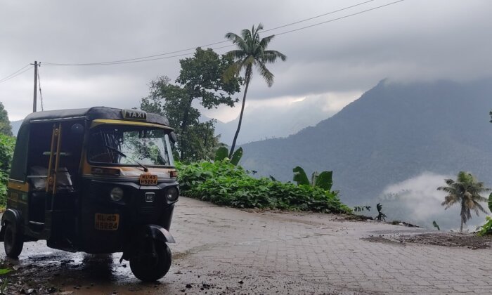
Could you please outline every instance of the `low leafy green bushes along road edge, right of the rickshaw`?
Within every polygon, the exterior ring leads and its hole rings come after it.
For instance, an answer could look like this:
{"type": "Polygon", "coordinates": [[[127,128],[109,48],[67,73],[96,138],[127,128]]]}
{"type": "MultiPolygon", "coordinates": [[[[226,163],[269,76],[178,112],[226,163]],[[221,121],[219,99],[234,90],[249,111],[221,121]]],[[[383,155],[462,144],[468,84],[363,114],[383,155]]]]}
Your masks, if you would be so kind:
{"type": "Polygon", "coordinates": [[[253,178],[241,166],[224,161],[178,164],[181,195],[223,206],[351,213],[337,192],[311,185],[253,178]]]}

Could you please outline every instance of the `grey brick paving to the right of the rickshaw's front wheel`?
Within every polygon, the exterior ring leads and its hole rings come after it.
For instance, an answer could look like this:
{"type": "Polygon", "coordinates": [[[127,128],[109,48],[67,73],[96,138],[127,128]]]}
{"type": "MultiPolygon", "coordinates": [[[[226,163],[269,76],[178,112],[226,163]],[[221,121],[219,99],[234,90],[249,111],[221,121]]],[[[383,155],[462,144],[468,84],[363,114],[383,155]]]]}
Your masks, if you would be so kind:
{"type": "MultiPolygon", "coordinates": [[[[171,228],[177,242],[171,272],[188,271],[231,292],[492,294],[491,249],[361,240],[418,231],[181,198],[171,228]]],[[[195,281],[187,291],[198,291],[195,281]]]]}

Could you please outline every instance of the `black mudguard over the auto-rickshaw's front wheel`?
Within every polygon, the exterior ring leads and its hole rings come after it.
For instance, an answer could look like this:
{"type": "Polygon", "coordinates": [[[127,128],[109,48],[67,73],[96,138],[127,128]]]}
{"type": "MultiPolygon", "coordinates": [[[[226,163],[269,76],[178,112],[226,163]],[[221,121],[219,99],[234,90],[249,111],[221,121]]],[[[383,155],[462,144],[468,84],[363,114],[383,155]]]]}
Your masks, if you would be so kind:
{"type": "Polygon", "coordinates": [[[130,260],[131,257],[138,253],[138,248],[141,247],[148,239],[160,241],[163,243],[175,243],[174,237],[165,228],[160,225],[148,224],[143,225],[136,231],[136,235],[131,239],[131,243],[125,247],[123,256],[119,262],[130,260]]]}

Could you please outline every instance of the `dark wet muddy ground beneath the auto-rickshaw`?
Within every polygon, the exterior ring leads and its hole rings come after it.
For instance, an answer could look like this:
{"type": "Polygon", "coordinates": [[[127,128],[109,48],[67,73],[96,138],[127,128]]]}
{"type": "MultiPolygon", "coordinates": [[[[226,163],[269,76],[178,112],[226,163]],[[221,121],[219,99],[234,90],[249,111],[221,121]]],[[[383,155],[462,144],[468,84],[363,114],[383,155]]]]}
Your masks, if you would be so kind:
{"type": "MultiPolygon", "coordinates": [[[[127,294],[148,288],[167,289],[167,283],[145,284],[131,273],[128,261],[119,263],[121,253],[85,254],[50,249],[43,242],[25,244],[18,260],[6,258],[4,264],[15,270],[9,275],[9,294],[20,289],[74,291],[75,294],[127,294]]],[[[172,271],[172,266],[171,266],[172,271]]],[[[171,271],[163,280],[171,275],[171,271]]]]}

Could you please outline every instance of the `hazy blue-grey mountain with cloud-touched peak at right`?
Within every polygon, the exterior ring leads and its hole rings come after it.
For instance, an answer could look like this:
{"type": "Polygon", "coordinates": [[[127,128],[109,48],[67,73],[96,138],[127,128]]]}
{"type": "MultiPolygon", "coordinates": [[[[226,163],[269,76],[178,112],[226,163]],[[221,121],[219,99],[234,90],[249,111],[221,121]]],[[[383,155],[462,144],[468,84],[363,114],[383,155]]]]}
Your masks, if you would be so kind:
{"type": "Polygon", "coordinates": [[[242,145],[242,165],[282,181],[292,180],[297,165],[306,173],[333,170],[334,189],[349,205],[372,202],[422,173],[470,171],[492,186],[490,93],[492,80],[381,81],[316,126],[242,145]]]}

